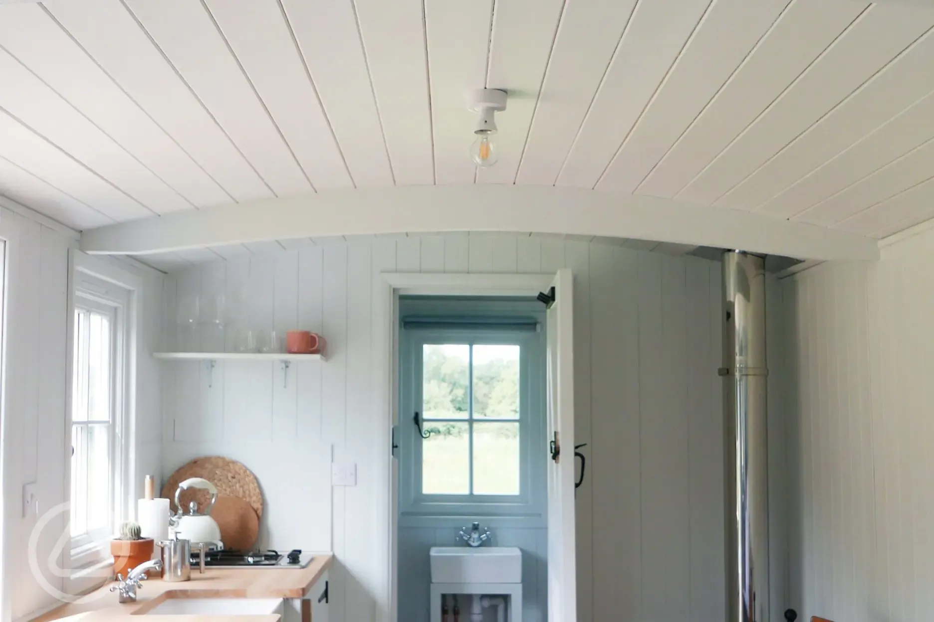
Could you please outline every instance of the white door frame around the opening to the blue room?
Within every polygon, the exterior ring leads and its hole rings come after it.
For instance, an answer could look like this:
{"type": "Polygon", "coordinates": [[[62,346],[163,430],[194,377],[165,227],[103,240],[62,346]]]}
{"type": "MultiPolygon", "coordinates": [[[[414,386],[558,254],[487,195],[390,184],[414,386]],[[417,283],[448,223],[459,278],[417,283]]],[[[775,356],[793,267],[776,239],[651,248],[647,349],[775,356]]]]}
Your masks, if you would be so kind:
{"type": "MultiPolygon", "coordinates": [[[[399,422],[399,296],[535,296],[547,292],[555,274],[463,274],[427,272],[383,272],[375,281],[374,304],[374,357],[384,361],[385,367],[376,368],[375,408],[384,409],[380,435],[379,455],[386,464],[386,486],[379,491],[385,495],[378,500],[386,519],[376,521],[377,530],[385,529],[380,538],[387,546],[385,568],[388,571],[385,609],[376,608],[378,622],[397,622],[396,602],[398,588],[398,508],[399,472],[392,458],[392,426],[399,422]]],[[[380,518],[379,513],[375,513],[380,518]]]]}

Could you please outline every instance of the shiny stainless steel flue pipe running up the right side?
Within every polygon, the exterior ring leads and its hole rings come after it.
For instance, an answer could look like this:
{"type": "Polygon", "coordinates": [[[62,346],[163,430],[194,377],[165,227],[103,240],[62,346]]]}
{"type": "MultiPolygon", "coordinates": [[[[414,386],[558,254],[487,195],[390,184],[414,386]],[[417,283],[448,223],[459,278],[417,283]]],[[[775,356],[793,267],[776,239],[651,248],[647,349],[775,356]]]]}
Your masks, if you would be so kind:
{"type": "Polygon", "coordinates": [[[723,254],[727,622],[769,620],[765,261],[723,254]]]}

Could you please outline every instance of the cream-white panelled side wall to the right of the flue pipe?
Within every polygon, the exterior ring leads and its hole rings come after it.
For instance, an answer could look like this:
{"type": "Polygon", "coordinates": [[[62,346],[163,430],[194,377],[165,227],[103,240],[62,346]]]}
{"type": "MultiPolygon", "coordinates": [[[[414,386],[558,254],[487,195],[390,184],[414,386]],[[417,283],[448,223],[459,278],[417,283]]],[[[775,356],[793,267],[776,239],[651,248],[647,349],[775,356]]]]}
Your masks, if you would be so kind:
{"type": "MultiPolygon", "coordinates": [[[[931,230],[782,282],[790,584],[800,616],[923,619],[934,577],[931,230]]],[[[770,438],[771,441],[771,438],[770,438]]]]}

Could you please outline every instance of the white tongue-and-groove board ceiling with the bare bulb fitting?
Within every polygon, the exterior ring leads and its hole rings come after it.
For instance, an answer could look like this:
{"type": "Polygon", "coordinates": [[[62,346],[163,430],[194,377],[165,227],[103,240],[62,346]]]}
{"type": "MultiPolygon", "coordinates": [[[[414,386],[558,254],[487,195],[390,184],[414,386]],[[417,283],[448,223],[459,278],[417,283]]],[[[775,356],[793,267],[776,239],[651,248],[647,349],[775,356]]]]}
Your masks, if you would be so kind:
{"type": "Polygon", "coordinates": [[[0,194],[77,229],[545,185],[882,238],[934,216],[934,9],[856,0],[0,5],[0,194]],[[508,90],[497,165],[468,90],[508,90]]]}

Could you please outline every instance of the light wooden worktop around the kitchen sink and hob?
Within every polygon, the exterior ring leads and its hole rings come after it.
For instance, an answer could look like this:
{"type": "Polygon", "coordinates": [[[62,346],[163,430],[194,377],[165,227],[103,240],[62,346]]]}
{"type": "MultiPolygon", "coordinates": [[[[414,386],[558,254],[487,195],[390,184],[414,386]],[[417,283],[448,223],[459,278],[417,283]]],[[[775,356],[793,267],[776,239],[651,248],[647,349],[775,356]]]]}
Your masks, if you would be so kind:
{"type": "MultiPolygon", "coordinates": [[[[253,598],[253,599],[300,599],[315,585],[321,574],[331,566],[331,554],[315,555],[302,569],[270,568],[217,568],[205,569],[200,574],[191,568],[191,581],[167,582],[149,579],[136,592],[137,601],[120,604],[117,593],[111,593],[107,582],[78,602],[64,604],[48,614],[40,615],[34,622],[48,622],[67,618],[67,622],[106,620],[124,622],[138,620],[130,615],[144,614],[160,602],[184,598],[253,598]],[[74,617],[72,617],[74,616],[74,617]]],[[[173,622],[216,622],[218,620],[248,620],[249,622],[276,622],[278,615],[175,615],[173,622]]]]}

